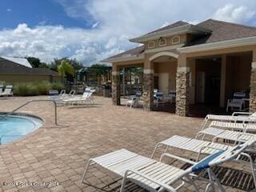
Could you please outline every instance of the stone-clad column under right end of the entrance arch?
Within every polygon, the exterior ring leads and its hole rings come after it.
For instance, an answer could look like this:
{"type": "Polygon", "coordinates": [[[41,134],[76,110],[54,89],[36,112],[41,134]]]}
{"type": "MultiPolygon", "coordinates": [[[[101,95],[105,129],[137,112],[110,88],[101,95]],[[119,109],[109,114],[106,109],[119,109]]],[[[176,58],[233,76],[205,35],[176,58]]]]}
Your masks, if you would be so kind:
{"type": "Polygon", "coordinates": [[[190,105],[190,67],[186,66],[186,57],[178,58],[176,76],[176,114],[188,116],[190,105]]]}

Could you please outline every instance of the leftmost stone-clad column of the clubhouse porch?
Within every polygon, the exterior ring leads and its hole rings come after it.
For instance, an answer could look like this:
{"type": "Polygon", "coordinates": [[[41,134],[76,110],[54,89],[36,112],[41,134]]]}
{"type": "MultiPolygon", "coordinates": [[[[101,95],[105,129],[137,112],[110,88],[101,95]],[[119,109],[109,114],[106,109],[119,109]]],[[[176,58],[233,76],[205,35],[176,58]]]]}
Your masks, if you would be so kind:
{"type": "Polygon", "coordinates": [[[120,72],[119,67],[112,66],[112,103],[120,106],[120,72]]]}

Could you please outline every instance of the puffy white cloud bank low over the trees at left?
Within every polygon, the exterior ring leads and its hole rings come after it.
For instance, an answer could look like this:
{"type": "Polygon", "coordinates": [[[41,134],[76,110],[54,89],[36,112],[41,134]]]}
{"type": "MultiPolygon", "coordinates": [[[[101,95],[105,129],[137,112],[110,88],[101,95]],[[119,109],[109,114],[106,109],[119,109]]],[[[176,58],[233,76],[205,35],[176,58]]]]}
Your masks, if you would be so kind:
{"type": "MultiPolygon", "coordinates": [[[[34,56],[50,62],[54,58],[78,58],[84,64],[98,61],[109,54],[118,54],[122,49],[114,47],[118,38],[82,29],[65,29],[63,26],[37,26],[30,28],[25,23],[14,30],[0,31],[0,55],[34,56]],[[106,48],[101,45],[108,45],[106,48]]],[[[122,43],[121,43],[122,44],[122,43]]]]}

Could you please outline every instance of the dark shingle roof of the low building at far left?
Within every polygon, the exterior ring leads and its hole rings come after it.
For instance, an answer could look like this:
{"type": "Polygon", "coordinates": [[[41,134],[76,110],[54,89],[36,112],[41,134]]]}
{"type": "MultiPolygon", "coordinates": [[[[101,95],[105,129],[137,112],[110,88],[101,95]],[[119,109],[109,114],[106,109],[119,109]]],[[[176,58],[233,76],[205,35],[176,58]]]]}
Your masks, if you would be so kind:
{"type": "Polygon", "coordinates": [[[4,58],[0,58],[0,74],[41,74],[59,76],[59,74],[46,68],[29,68],[10,62],[4,58]]]}

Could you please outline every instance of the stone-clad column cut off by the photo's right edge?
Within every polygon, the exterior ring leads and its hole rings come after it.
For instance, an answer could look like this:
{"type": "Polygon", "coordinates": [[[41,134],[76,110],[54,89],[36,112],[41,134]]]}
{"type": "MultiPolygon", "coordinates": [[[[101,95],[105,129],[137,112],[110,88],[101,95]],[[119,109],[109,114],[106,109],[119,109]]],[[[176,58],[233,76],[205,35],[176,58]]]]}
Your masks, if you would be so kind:
{"type": "Polygon", "coordinates": [[[256,49],[253,51],[250,71],[250,112],[256,112],[256,49]]]}

